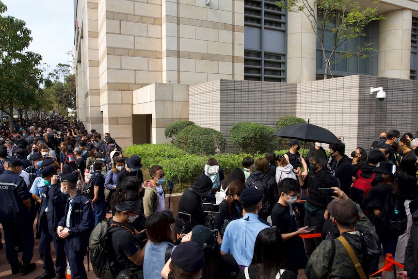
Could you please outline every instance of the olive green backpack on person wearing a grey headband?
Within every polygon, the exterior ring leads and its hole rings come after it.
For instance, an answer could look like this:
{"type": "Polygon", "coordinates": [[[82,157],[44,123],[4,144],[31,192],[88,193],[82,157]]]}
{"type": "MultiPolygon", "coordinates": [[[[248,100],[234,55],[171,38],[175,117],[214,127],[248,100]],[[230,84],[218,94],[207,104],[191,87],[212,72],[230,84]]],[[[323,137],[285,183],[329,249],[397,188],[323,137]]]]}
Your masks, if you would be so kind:
{"type": "MultiPolygon", "coordinates": [[[[94,228],[89,238],[89,257],[93,271],[99,279],[114,279],[120,270],[113,259],[111,233],[116,230],[129,230],[124,226],[113,223],[112,219],[101,221],[94,228]]],[[[132,232],[132,231],[131,231],[132,232]]],[[[133,232],[132,232],[133,233],[133,232]]]]}

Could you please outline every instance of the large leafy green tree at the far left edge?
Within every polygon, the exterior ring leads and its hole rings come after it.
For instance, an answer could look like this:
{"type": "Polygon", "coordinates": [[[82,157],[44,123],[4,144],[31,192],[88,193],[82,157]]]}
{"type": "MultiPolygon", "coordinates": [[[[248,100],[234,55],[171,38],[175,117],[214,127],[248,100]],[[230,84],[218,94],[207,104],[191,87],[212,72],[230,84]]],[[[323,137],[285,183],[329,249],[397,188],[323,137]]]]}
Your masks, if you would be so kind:
{"type": "MultiPolygon", "coordinates": [[[[7,11],[0,1],[0,14],[7,11]]],[[[38,67],[41,55],[25,51],[32,41],[31,31],[23,20],[0,15],[0,105],[10,116],[10,130],[14,128],[13,108],[29,107],[40,93],[43,82],[38,67]]]]}

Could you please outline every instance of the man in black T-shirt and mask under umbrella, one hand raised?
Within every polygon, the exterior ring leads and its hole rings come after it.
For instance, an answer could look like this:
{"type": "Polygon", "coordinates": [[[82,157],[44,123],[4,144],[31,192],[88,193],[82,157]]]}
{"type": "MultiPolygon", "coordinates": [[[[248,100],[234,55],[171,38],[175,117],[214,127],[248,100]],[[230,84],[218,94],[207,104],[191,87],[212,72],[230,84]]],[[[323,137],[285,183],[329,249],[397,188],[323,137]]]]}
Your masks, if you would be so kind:
{"type": "MultiPolygon", "coordinates": [[[[326,169],[326,160],[321,151],[314,151],[309,157],[309,173],[305,180],[299,171],[297,173],[299,185],[302,189],[309,189],[309,196],[305,202],[305,226],[316,227],[313,233],[320,233],[325,220],[328,219],[326,207],[332,201],[331,197],[320,197],[319,188],[331,188],[334,179],[326,169]]],[[[309,256],[321,243],[322,238],[306,239],[306,255],[309,256]]]]}

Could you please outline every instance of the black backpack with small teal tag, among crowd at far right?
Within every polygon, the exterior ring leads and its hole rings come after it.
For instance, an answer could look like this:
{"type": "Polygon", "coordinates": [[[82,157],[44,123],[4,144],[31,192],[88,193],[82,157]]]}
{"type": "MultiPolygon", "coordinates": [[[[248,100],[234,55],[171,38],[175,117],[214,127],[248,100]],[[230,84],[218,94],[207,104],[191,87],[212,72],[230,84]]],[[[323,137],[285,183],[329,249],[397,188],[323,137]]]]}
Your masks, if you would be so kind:
{"type": "Polygon", "coordinates": [[[401,196],[389,192],[379,215],[386,237],[398,237],[406,231],[406,210],[401,196]]]}

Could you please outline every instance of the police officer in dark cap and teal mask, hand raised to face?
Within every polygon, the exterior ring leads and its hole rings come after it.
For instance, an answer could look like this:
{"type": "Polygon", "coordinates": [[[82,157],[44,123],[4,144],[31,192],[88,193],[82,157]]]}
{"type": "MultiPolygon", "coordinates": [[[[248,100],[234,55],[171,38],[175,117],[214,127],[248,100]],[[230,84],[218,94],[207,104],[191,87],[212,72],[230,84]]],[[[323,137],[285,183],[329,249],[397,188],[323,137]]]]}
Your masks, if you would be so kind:
{"type": "Polygon", "coordinates": [[[66,269],[64,241],[58,237],[57,227],[58,222],[64,216],[66,195],[60,191],[56,167],[48,165],[42,168],[40,174],[45,186],[41,194],[37,226],[41,231],[39,255],[44,262],[43,268],[45,272],[35,279],[64,279],[66,269]],[[51,256],[52,241],[56,252],[55,270],[51,256]]]}

